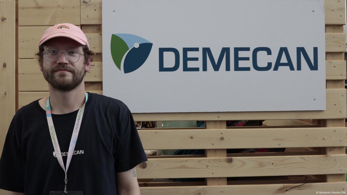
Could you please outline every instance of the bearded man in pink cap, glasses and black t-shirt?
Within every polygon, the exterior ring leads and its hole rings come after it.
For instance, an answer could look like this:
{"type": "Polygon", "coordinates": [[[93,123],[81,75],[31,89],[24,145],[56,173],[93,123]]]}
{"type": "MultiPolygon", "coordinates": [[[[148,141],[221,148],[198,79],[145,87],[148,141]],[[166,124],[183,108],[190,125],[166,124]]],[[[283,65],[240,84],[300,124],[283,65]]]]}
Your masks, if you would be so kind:
{"type": "Polygon", "coordinates": [[[84,33],[72,24],[52,26],[37,56],[49,97],[24,106],[12,119],[0,188],[25,195],[140,194],[135,167],[147,159],[129,109],[119,100],[85,93],[93,52],[84,33]]]}

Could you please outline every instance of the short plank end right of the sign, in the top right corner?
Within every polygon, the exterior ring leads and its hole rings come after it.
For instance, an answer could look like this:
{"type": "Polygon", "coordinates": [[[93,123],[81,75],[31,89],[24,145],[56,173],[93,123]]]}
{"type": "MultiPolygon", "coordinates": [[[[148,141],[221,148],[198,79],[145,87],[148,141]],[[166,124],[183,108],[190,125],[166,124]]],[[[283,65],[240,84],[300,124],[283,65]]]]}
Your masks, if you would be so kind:
{"type": "Polygon", "coordinates": [[[345,0],[324,0],[325,24],[345,25],[345,0]]]}

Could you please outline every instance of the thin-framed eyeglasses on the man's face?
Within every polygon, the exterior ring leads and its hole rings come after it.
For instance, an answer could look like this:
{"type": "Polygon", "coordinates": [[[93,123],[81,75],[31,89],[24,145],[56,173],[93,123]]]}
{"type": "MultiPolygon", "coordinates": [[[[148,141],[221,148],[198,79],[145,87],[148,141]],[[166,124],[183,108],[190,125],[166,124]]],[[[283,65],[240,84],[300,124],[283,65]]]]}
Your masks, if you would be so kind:
{"type": "Polygon", "coordinates": [[[50,49],[50,50],[42,52],[42,54],[44,54],[46,59],[50,62],[57,61],[60,58],[60,53],[64,53],[66,60],[69,61],[70,63],[77,62],[81,55],[85,55],[85,53],[79,53],[78,51],[75,51],[75,50],[69,50],[64,52],[64,51],[58,51],[56,49],[50,49]]]}

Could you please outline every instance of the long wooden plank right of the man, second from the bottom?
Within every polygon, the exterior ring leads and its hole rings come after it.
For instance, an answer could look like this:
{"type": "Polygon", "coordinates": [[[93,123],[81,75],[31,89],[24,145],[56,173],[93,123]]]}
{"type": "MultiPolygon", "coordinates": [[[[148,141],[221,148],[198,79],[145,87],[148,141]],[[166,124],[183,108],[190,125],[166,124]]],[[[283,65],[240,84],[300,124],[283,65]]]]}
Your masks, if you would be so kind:
{"type": "Polygon", "coordinates": [[[347,154],[148,159],[137,178],[210,178],[347,173],[347,154]]]}

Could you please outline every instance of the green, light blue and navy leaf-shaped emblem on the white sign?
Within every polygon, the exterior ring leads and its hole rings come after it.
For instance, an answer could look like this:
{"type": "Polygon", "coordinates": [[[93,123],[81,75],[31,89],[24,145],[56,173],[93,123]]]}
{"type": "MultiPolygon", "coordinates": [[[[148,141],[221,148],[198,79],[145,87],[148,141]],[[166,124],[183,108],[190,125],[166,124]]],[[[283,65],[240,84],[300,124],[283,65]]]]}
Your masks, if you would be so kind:
{"type": "Polygon", "coordinates": [[[112,34],[111,56],[119,70],[131,73],[147,60],[153,43],[133,34],[112,34]]]}

